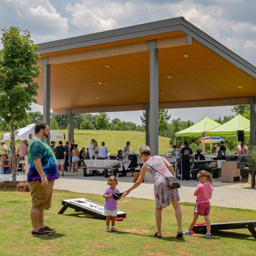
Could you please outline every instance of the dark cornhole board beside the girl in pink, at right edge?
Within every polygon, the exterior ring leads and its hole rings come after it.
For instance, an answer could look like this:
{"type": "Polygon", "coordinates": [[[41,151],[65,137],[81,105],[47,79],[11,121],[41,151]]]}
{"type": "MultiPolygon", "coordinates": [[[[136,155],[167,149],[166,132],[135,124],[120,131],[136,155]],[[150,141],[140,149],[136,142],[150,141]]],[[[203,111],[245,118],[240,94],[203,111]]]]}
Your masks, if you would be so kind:
{"type": "MultiPolygon", "coordinates": [[[[248,228],[253,237],[256,239],[256,220],[253,221],[240,221],[240,222],[230,222],[230,223],[212,223],[211,232],[219,230],[238,230],[241,228],[248,228]]],[[[206,233],[206,225],[196,225],[193,228],[195,233],[206,233]]]]}

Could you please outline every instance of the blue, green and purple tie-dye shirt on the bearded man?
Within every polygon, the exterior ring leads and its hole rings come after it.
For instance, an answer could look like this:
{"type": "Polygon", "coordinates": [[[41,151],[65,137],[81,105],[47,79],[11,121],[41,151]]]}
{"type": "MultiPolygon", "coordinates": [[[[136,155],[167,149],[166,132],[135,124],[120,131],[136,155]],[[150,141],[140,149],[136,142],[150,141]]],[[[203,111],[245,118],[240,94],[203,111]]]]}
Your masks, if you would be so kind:
{"type": "Polygon", "coordinates": [[[59,178],[58,164],[55,154],[51,150],[50,146],[41,139],[32,139],[28,149],[29,158],[29,171],[28,181],[41,181],[41,177],[36,170],[35,158],[41,158],[43,170],[48,180],[55,180],[59,178]]]}

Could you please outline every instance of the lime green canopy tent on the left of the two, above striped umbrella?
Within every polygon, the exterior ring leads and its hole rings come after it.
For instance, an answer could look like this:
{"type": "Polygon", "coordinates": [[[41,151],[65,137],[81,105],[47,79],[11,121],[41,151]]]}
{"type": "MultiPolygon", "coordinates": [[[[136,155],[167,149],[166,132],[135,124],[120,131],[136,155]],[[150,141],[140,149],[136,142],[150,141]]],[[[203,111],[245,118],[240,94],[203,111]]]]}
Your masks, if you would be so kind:
{"type": "MultiPolygon", "coordinates": [[[[220,126],[219,123],[215,122],[210,117],[205,117],[196,124],[186,128],[183,131],[179,131],[175,133],[176,137],[199,137],[205,136],[207,131],[220,126]]],[[[208,133],[207,133],[208,134],[208,133]]]]}

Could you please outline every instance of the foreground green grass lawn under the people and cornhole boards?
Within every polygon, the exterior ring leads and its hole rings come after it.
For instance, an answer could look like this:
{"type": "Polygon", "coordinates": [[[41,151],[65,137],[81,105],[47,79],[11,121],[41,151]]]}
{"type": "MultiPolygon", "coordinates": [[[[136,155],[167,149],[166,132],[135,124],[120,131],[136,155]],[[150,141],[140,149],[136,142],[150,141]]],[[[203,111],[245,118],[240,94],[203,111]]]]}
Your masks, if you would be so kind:
{"type": "MultiPolygon", "coordinates": [[[[45,223],[57,228],[49,237],[30,235],[30,193],[0,192],[0,255],[255,255],[256,240],[247,230],[203,234],[176,239],[177,224],[172,207],[163,211],[163,238],[155,238],[154,201],[124,198],[119,209],[127,213],[118,221],[118,233],[106,233],[105,221],[88,218],[83,213],[66,210],[57,214],[62,199],[87,198],[104,203],[93,194],[53,191],[52,208],[45,211],[45,223]]],[[[192,204],[181,206],[183,229],[193,213],[192,204]]],[[[256,212],[224,207],[211,208],[212,222],[255,220],[256,212]]],[[[199,219],[198,221],[203,221],[199,219]]]]}

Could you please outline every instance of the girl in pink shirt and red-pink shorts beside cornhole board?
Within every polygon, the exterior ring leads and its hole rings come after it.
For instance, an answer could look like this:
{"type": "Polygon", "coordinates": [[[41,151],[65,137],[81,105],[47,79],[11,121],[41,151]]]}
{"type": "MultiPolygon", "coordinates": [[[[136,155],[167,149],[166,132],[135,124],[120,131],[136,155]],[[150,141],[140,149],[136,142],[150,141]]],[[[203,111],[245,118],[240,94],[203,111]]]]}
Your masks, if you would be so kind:
{"type": "Polygon", "coordinates": [[[194,196],[197,197],[196,200],[196,206],[194,207],[194,218],[191,221],[190,226],[186,231],[184,231],[184,234],[191,235],[191,231],[196,224],[196,221],[199,217],[199,215],[205,217],[206,222],[206,238],[212,238],[211,234],[211,221],[209,218],[210,214],[210,201],[209,199],[212,198],[212,174],[208,173],[206,171],[200,171],[197,174],[197,178],[200,181],[200,183],[197,185],[196,191],[194,192],[194,196]]]}

